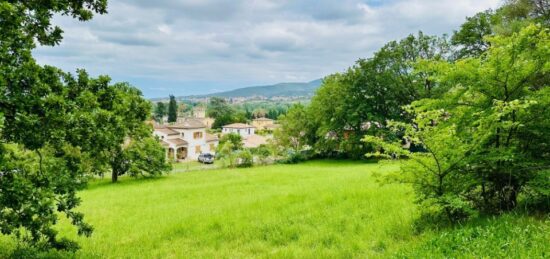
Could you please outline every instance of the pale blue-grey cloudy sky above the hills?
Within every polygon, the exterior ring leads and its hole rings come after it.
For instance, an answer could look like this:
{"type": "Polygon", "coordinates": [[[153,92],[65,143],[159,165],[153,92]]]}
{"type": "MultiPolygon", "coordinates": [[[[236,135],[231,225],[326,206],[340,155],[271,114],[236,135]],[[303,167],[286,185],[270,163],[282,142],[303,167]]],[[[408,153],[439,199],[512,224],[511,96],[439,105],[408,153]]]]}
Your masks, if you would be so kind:
{"type": "Polygon", "coordinates": [[[56,17],[65,38],[38,61],[164,97],[322,78],[410,33],[449,34],[501,0],[109,2],[90,22],[56,17]]]}

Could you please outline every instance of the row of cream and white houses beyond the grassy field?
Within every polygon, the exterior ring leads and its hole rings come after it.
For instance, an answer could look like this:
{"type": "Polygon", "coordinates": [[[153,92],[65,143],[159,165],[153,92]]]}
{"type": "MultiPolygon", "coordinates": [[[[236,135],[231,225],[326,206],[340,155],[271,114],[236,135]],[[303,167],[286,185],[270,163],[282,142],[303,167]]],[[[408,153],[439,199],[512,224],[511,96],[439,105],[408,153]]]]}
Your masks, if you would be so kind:
{"type": "MultiPolygon", "coordinates": [[[[252,125],[233,123],[222,127],[222,134],[236,133],[243,138],[245,147],[258,147],[267,143],[267,137],[256,134],[257,129],[275,128],[273,120],[259,118],[252,125]]],[[[186,118],[174,124],[156,124],[153,134],[166,149],[168,159],[175,161],[196,160],[201,153],[215,154],[219,144],[217,135],[207,133],[209,125],[204,118],[186,118]]]]}

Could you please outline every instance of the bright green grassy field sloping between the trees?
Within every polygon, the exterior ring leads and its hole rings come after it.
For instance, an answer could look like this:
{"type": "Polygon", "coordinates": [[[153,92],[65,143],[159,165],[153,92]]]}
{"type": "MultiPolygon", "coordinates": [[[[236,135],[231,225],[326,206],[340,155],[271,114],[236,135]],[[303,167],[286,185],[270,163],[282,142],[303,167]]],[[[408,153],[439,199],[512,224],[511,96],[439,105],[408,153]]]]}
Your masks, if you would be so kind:
{"type": "MultiPolygon", "coordinates": [[[[175,169],[177,170],[177,168],[175,169]]],[[[314,161],[93,182],[75,237],[82,258],[377,258],[550,256],[550,221],[520,215],[415,231],[411,189],[380,186],[397,165],[314,161]]],[[[13,249],[0,239],[0,257],[13,249]]]]}

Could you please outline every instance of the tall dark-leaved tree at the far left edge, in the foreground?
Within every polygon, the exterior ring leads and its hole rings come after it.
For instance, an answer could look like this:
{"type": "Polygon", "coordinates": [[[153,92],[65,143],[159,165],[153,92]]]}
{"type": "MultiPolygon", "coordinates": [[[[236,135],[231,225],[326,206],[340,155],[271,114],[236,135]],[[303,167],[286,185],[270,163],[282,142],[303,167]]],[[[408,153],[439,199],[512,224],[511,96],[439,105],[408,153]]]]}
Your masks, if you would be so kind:
{"type": "Polygon", "coordinates": [[[77,248],[57,238],[58,213],[80,235],[92,232],[74,209],[80,203],[76,192],[92,171],[89,151],[95,140],[71,132],[94,129],[89,126],[98,116],[100,91],[37,65],[32,49],[61,41],[61,28],[51,25],[54,14],[87,21],[106,8],[105,0],[0,3],[0,230],[30,245],[77,248]]]}

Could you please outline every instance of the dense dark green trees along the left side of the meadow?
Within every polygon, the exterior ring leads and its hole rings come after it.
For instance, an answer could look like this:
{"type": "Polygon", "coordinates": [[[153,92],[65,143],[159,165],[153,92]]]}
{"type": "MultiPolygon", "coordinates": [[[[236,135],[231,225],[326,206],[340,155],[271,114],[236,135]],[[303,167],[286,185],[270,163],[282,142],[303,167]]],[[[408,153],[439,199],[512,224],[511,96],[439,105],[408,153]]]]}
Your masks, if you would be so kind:
{"type": "Polygon", "coordinates": [[[106,0],[0,2],[0,231],[39,249],[75,250],[54,225],[66,216],[78,234],[93,227],[76,209],[90,176],[169,170],[144,124],[151,109],[141,92],[110,78],[38,65],[36,44],[56,45],[53,15],[86,21],[106,0]],[[147,166],[144,166],[144,162],[147,166]]]}

